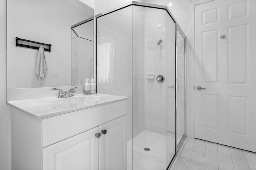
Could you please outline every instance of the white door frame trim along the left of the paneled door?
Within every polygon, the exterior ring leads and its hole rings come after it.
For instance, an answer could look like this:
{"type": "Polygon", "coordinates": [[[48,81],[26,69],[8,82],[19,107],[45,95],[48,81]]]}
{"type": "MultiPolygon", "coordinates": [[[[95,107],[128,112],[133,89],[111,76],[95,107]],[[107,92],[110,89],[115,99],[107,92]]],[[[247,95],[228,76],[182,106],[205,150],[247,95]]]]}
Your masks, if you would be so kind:
{"type": "Polygon", "coordinates": [[[191,90],[191,115],[190,115],[190,137],[192,139],[195,138],[196,136],[196,90],[195,90],[195,87],[196,87],[196,36],[195,36],[195,31],[196,31],[196,25],[195,25],[195,8],[197,5],[200,5],[200,4],[204,4],[204,3],[207,3],[207,2],[211,2],[211,1],[214,1],[214,0],[191,0],[191,6],[192,6],[192,30],[191,30],[191,38],[192,38],[192,41],[191,41],[191,49],[193,50],[191,52],[191,87],[190,87],[190,90],[191,90]]]}

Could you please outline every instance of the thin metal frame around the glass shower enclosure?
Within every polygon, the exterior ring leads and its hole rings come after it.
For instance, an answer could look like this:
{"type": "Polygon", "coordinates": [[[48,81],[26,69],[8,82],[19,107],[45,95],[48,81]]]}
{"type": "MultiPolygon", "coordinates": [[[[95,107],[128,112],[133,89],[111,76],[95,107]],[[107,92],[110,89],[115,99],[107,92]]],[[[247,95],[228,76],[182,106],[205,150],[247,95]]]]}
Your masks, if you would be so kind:
{"type": "MultiPolygon", "coordinates": [[[[175,154],[174,156],[172,157],[171,161],[169,162],[168,166],[166,167],[166,170],[170,170],[171,169],[171,166],[172,164],[174,163],[174,160],[179,152],[179,150],[181,149],[182,147],[182,144],[184,143],[185,139],[186,139],[186,34],[182,31],[180,25],[178,24],[178,22],[176,21],[176,19],[174,18],[174,16],[172,15],[172,13],[170,12],[169,8],[167,6],[162,6],[162,5],[157,5],[157,4],[148,4],[148,3],[144,3],[144,2],[136,2],[136,1],[131,1],[131,2],[128,2],[127,4],[124,4],[122,6],[119,6],[119,7],[116,7],[116,8],[113,8],[111,10],[108,10],[106,12],[102,12],[100,14],[97,14],[95,17],[95,54],[96,54],[96,57],[95,57],[95,63],[96,63],[96,68],[97,68],[97,19],[102,17],[102,16],[105,16],[105,15],[108,15],[110,13],[113,13],[113,12],[116,12],[118,10],[121,10],[121,9],[124,9],[124,8],[127,8],[129,6],[141,6],[141,7],[146,7],[146,8],[155,8],[155,9],[160,9],[160,10],[165,10],[169,16],[172,18],[172,20],[174,21],[175,23],[175,154]],[[182,139],[180,140],[180,145],[178,145],[177,143],[177,137],[176,137],[176,126],[177,126],[177,92],[178,92],[178,86],[177,86],[177,30],[180,32],[180,34],[182,35],[182,37],[184,38],[184,74],[185,74],[185,77],[184,77],[184,82],[185,82],[185,88],[184,88],[184,111],[185,111],[185,134],[183,135],[182,139]]],[[[167,64],[167,63],[166,63],[167,64]]],[[[96,75],[95,75],[96,79],[95,80],[98,80],[97,79],[97,69],[96,69],[96,75]]],[[[98,81],[96,81],[96,87],[97,87],[97,83],[98,81]]],[[[167,87],[166,87],[167,88],[167,87]]],[[[97,88],[96,88],[96,91],[97,91],[97,88]]],[[[133,128],[133,126],[132,126],[133,128]]],[[[133,164],[133,161],[132,161],[132,164],[133,164]]],[[[167,162],[166,162],[167,164],[167,162]]]]}

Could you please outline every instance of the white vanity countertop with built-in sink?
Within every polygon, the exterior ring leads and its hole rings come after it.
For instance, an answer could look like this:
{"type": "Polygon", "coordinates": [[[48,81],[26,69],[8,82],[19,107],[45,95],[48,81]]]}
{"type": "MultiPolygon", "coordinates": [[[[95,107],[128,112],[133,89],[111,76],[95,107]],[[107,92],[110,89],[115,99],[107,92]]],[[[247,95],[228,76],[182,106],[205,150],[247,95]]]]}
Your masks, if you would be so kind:
{"type": "Polygon", "coordinates": [[[72,111],[101,106],[113,102],[127,100],[126,96],[115,96],[109,94],[74,94],[70,98],[40,98],[30,100],[9,101],[8,104],[16,109],[27,113],[37,119],[69,113],[72,111]],[[82,99],[80,101],[80,99],[82,99]]]}

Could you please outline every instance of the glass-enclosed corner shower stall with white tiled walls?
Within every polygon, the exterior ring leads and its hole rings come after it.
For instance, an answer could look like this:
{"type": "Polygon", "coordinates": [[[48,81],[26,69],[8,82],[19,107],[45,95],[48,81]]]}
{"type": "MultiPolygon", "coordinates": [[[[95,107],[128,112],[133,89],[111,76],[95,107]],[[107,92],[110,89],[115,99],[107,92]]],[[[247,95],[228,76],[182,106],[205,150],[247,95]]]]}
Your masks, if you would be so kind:
{"type": "MultiPolygon", "coordinates": [[[[97,92],[128,96],[128,170],[165,170],[186,137],[185,35],[166,6],[96,16],[97,92]]],[[[118,134],[117,134],[118,135],[118,134]]]]}

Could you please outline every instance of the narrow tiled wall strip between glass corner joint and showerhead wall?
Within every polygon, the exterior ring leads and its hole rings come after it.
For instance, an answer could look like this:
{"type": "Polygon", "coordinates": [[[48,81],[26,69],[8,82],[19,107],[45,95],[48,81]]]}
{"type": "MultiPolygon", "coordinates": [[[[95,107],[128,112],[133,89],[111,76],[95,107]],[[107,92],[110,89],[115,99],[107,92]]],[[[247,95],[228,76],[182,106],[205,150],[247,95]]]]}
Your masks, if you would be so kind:
{"type": "Polygon", "coordinates": [[[145,130],[144,7],[132,7],[133,137],[145,130]]]}

